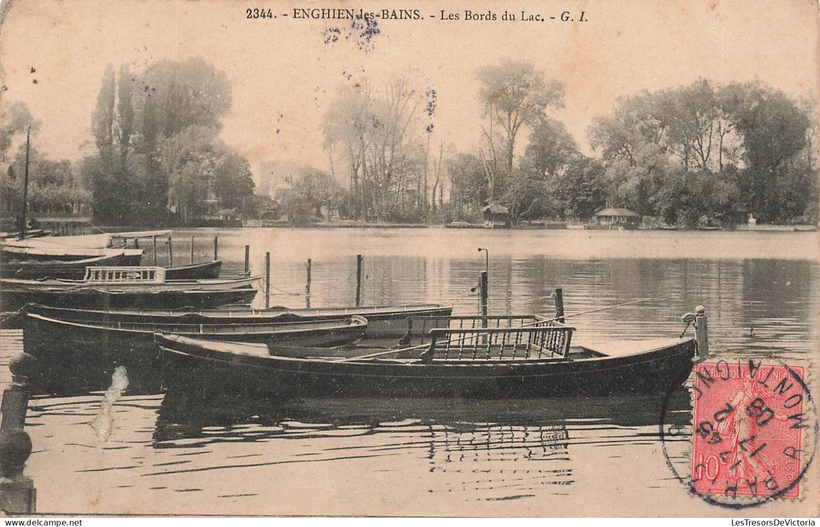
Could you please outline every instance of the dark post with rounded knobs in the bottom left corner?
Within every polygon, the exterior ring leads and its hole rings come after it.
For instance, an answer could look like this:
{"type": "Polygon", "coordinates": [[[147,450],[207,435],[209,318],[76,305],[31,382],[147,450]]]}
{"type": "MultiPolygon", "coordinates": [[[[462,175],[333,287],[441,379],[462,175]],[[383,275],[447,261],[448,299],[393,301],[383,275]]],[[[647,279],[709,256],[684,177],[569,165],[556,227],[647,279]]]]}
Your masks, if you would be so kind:
{"type": "Polygon", "coordinates": [[[26,383],[34,367],[34,357],[23,352],[23,330],[0,330],[4,351],[17,351],[8,363],[11,384],[2,394],[0,424],[0,510],[30,514],[37,510],[34,480],[23,475],[31,455],[31,438],[24,430],[29,407],[26,383]],[[19,351],[18,351],[19,350],[19,351]]]}

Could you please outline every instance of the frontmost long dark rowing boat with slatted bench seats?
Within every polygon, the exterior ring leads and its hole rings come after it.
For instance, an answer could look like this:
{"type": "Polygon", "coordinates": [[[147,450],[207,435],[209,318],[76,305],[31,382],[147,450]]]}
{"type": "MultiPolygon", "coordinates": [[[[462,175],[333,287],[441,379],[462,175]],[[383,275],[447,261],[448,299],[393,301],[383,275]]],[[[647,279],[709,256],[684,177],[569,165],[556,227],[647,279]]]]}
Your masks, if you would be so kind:
{"type": "Polygon", "coordinates": [[[695,356],[694,339],[627,351],[573,348],[572,328],[551,320],[507,329],[432,329],[430,336],[420,347],[348,358],[316,357],[316,348],[285,357],[298,348],[154,339],[168,385],[271,399],[652,393],[681,384],[695,356]]]}

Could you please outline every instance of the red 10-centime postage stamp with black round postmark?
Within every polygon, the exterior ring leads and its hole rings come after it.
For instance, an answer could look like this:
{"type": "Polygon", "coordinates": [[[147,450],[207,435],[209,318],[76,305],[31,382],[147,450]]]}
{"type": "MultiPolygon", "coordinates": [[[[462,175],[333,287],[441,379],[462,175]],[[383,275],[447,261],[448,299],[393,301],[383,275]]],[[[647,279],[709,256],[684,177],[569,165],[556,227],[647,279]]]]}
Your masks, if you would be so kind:
{"type": "Polygon", "coordinates": [[[691,486],[722,497],[799,497],[804,368],[759,361],[695,367],[691,486]]]}

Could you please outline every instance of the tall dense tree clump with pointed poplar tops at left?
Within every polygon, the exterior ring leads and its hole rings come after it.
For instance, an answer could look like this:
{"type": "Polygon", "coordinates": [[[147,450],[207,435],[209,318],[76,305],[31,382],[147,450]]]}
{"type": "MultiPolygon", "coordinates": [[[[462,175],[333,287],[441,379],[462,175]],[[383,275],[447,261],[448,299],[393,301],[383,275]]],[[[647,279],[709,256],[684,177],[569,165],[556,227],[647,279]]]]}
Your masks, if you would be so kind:
{"type": "Polygon", "coordinates": [[[92,128],[98,162],[86,162],[94,215],[116,223],[185,222],[244,210],[248,163],[216,138],[230,82],[202,58],[103,74],[92,128]]]}

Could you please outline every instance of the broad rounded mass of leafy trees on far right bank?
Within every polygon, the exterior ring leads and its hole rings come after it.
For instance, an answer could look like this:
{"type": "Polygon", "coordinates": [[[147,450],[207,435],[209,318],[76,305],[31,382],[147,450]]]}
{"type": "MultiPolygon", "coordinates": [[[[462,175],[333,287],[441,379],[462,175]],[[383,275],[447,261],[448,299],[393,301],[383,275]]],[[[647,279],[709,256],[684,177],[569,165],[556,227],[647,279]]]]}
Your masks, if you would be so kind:
{"type": "Polygon", "coordinates": [[[789,221],[817,208],[818,173],[804,149],[810,113],[758,83],[698,80],[619,99],[613,116],[594,121],[590,141],[604,158],[610,204],[687,225],[702,216],[731,224],[744,212],[789,221]]]}

